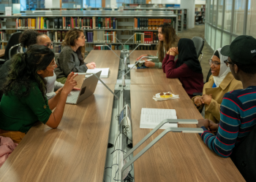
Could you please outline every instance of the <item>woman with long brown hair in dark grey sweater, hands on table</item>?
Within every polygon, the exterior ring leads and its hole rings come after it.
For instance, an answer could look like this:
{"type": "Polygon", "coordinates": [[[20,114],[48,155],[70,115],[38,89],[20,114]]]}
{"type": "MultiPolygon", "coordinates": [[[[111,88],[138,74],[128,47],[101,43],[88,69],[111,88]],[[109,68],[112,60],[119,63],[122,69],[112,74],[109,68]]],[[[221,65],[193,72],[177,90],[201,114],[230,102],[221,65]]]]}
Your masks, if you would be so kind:
{"type": "Polygon", "coordinates": [[[86,52],[86,36],[83,31],[72,28],[67,32],[62,43],[64,48],[56,61],[58,68],[55,69],[57,82],[64,84],[71,72],[84,73],[87,69],[96,68],[95,63],[84,63],[83,58],[86,52]]]}

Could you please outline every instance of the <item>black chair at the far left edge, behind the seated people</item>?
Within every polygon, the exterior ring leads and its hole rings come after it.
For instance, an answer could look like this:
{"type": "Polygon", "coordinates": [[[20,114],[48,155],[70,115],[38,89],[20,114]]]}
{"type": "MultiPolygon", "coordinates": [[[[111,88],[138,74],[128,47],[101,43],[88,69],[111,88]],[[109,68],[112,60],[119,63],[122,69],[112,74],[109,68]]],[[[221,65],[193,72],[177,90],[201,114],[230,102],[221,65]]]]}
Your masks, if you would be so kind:
{"type": "Polygon", "coordinates": [[[10,39],[7,42],[7,47],[5,48],[4,59],[0,59],[1,63],[4,63],[5,61],[10,60],[10,58],[12,58],[12,55],[17,54],[18,45],[20,45],[19,44],[20,34],[21,32],[18,31],[18,32],[12,33],[12,35],[10,36],[10,39]]]}

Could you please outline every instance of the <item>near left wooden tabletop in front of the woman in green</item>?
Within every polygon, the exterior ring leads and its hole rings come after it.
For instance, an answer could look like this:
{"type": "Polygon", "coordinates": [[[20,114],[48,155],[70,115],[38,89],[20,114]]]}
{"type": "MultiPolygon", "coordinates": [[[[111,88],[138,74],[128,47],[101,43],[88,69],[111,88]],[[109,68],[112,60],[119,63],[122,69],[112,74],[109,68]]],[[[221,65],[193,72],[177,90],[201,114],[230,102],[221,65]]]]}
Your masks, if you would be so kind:
{"type": "MultiPolygon", "coordinates": [[[[77,77],[79,85],[83,79],[77,77]]],[[[113,95],[98,84],[86,100],[66,104],[57,129],[31,127],[1,167],[0,181],[103,181],[112,106],[113,95]]]]}

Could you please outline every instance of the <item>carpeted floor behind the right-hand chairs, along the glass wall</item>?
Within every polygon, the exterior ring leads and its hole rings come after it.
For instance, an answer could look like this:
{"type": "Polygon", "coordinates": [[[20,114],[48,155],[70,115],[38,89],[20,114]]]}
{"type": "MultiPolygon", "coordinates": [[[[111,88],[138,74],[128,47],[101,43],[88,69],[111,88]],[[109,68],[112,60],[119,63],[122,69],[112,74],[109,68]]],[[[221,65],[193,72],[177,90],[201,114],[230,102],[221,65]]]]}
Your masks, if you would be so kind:
{"type": "MultiPolygon", "coordinates": [[[[200,36],[204,39],[205,35],[205,25],[195,25],[195,28],[189,28],[187,31],[183,31],[181,33],[178,33],[178,36],[180,38],[188,38],[192,39],[194,36],[200,36]]],[[[206,76],[208,74],[208,71],[210,69],[208,60],[211,59],[211,56],[214,54],[214,51],[211,49],[211,47],[206,43],[203,47],[203,59],[201,61],[201,66],[203,69],[203,79],[206,82],[206,76]]],[[[200,59],[200,58],[199,58],[200,59]]]]}

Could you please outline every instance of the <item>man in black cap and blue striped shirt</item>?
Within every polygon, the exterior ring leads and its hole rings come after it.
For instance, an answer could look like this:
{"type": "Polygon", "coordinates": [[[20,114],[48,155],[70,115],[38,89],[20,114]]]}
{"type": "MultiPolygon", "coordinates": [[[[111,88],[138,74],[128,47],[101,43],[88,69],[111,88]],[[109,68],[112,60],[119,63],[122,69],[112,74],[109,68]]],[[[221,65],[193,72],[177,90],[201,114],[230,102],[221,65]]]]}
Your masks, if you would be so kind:
{"type": "Polygon", "coordinates": [[[256,39],[238,36],[222,48],[221,54],[235,79],[243,84],[242,90],[227,92],[220,106],[220,121],[198,119],[197,127],[203,142],[220,157],[230,157],[234,147],[243,141],[256,124],[256,39]],[[217,135],[214,135],[217,132],[217,135]]]}

